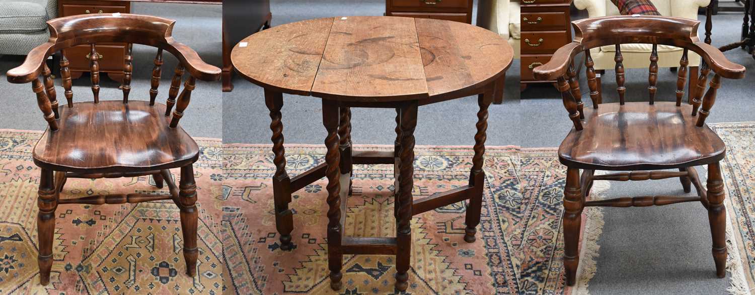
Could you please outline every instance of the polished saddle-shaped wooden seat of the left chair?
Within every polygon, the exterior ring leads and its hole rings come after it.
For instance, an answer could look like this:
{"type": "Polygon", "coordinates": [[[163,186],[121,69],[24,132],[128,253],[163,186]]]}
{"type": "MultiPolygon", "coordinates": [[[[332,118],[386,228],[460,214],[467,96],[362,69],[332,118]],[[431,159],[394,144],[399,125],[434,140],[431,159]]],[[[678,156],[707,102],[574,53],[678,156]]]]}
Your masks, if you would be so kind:
{"type": "Polygon", "coordinates": [[[170,128],[165,105],[131,100],[74,103],[60,107],[56,132],[45,132],[34,161],[54,171],[106,173],[183,167],[199,157],[199,146],[178,125],[170,128]],[[107,151],[107,152],[103,152],[107,151]]]}

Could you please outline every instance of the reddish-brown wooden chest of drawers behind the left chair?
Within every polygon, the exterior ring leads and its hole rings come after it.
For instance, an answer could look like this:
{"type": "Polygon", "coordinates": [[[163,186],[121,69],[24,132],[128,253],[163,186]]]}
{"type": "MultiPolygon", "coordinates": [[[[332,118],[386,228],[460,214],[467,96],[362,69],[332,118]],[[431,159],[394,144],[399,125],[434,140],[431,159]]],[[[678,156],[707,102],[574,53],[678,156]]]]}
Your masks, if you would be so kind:
{"type": "MultiPolygon", "coordinates": [[[[131,2],[223,4],[223,0],[58,0],[57,15],[68,17],[79,14],[129,14],[131,13],[131,2]]],[[[63,52],[70,63],[71,78],[76,79],[81,77],[84,72],[89,72],[90,52],[88,45],[66,48],[63,52]]],[[[113,81],[122,81],[125,54],[125,43],[97,44],[100,73],[105,73],[113,81]]]]}

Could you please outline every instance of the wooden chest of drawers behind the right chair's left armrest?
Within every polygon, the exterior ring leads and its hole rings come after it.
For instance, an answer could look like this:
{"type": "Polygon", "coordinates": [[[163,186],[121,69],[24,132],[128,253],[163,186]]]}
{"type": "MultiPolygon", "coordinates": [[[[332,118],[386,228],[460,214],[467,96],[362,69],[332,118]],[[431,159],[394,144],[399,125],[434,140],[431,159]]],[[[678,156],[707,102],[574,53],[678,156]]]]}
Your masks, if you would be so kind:
{"type": "Polygon", "coordinates": [[[522,0],[521,90],[536,81],[532,69],[547,63],[556,50],[572,41],[569,6],[572,0],[522,0]]]}

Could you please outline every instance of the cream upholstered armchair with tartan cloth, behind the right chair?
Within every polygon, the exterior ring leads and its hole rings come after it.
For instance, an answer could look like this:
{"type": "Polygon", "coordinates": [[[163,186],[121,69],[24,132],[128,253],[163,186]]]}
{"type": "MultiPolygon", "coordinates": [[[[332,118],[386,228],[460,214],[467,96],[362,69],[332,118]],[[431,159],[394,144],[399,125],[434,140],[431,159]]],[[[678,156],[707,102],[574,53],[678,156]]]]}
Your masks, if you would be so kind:
{"type": "MultiPolygon", "coordinates": [[[[655,8],[661,15],[667,17],[684,17],[692,20],[698,19],[698,8],[707,7],[710,0],[651,0],[655,8]]],[[[579,10],[587,10],[589,17],[606,17],[611,15],[620,15],[618,8],[611,0],[574,0],[574,5],[579,10]]],[[[645,68],[650,66],[650,51],[652,45],[649,44],[624,44],[621,45],[621,55],[624,57],[624,69],[645,68]]],[[[679,60],[682,57],[682,48],[676,48],[667,45],[658,45],[658,67],[675,68],[679,66],[679,60]]],[[[616,49],[614,45],[603,46],[600,48],[590,49],[590,54],[595,62],[595,70],[603,74],[606,69],[614,69],[616,63],[614,56],[616,49]]],[[[700,56],[689,52],[689,91],[687,94],[692,97],[692,85],[697,84],[698,65],[700,56]]],[[[598,78],[600,83],[600,78],[598,78]]],[[[599,91],[600,88],[598,88],[599,91]]],[[[602,91],[601,91],[602,93],[602,91]]],[[[689,99],[690,101],[692,98],[689,99]]]]}

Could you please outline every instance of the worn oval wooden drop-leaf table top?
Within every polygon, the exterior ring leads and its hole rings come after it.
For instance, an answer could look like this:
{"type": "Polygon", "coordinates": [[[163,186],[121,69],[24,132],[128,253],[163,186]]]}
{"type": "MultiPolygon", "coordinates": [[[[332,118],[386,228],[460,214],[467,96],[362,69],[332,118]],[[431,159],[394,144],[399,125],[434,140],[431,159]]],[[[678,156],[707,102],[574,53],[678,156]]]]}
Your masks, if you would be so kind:
{"type": "Polygon", "coordinates": [[[451,99],[504,75],[513,49],[449,20],[328,17],[274,26],[233,48],[240,75],[286,94],[356,102],[451,99]]]}

